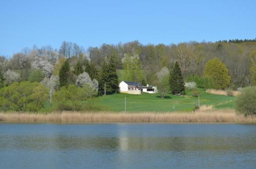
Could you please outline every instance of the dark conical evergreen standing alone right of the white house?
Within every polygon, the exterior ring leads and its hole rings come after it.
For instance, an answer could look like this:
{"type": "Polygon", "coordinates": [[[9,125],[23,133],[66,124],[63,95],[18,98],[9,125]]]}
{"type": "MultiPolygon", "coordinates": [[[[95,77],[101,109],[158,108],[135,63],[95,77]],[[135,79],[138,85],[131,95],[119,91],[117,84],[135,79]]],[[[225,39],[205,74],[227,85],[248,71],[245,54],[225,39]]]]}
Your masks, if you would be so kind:
{"type": "Polygon", "coordinates": [[[174,67],[170,70],[169,85],[172,94],[180,95],[185,92],[185,83],[178,62],[175,62],[174,67]]]}

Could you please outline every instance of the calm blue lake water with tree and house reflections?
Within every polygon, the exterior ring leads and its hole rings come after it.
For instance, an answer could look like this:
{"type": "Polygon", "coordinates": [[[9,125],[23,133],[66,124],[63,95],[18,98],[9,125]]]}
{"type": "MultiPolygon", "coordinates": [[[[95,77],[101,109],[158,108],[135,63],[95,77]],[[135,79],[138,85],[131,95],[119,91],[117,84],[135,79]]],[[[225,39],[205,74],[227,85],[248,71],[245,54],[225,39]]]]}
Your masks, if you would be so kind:
{"type": "Polygon", "coordinates": [[[0,123],[0,168],[256,168],[256,125],[0,123]]]}

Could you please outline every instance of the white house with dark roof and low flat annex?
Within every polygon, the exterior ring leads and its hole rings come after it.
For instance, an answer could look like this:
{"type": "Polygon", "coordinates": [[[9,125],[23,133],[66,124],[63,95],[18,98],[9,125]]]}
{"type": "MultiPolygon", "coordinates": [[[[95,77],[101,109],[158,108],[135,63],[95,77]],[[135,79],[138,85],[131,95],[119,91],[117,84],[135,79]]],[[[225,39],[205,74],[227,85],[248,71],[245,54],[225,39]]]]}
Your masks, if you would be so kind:
{"type": "Polygon", "coordinates": [[[120,92],[129,93],[129,94],[141,94],[141,91],[147,93],[156,93],[156,86],[141,86],[138,82],[127,82],[122,81],[119,83],[120,92]]]}

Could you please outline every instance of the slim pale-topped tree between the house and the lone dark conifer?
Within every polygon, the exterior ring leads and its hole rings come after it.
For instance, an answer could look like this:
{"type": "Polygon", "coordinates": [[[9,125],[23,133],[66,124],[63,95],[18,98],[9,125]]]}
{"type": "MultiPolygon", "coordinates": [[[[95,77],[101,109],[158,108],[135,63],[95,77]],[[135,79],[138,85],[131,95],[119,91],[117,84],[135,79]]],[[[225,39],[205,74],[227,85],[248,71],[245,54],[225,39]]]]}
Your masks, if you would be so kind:
{"type": "Polygon", "coordinates": [[[169,70],[166,67],[163,67],[158,73],[157,73],[157,87],[158,90],[161,93],[161,98],[164,98],[165,93],[169,90],[169,70]]]}

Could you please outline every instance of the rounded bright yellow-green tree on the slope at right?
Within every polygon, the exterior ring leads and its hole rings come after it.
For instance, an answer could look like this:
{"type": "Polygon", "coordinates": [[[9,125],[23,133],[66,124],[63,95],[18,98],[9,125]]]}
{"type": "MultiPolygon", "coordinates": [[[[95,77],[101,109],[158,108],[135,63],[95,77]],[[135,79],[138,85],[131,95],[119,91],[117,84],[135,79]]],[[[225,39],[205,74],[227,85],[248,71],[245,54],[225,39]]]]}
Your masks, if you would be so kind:
{"type": "Polygon", "coordinates": [[[219,58],[211,59],[205,64],[204,75],[212,79],[215,89],[225,89],[231,79],[226,65],[219,58]]]}

